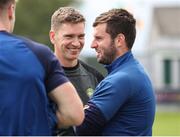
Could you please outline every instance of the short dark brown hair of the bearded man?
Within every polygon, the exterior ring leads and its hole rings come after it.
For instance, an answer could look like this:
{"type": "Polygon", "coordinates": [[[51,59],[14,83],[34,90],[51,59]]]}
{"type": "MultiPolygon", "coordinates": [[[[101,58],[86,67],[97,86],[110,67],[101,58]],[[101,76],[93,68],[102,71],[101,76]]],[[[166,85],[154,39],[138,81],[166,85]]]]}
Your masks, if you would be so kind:
{"type": "Polygon", "coordinates": [[[95,19],[93,27],[102,23],[107,23],[106,32],[112,39],[122,33],[125,36],[127,47],[132,48],[136,37],[136,20],[131,13],[125,9],[111,9],[100,14],[95,19]]]}

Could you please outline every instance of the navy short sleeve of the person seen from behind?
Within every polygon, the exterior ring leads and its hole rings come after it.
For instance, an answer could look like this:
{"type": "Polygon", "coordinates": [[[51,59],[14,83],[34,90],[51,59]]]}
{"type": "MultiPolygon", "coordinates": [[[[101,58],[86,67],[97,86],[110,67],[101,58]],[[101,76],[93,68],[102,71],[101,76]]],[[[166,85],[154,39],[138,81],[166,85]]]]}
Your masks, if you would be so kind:
{"type": "Polygon", "coordinates": [[[52,91],[57,86],[69,81],[65,76],[64,70],[58,59],[55,57],[49,47],[40,43],[24,39],[26,45],[36,55],[45,70],[45,84],[47,92],[52,91]]]}

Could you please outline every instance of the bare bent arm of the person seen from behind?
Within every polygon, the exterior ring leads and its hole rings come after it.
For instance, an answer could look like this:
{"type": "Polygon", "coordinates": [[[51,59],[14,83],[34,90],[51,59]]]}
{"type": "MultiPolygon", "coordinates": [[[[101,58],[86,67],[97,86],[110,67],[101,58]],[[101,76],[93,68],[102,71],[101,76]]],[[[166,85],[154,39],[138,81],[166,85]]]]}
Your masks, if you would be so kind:
{"type": "Polygon", "coordinates": [[[80,125],[84,120],[83,104],[70,82],[66,82],[49,93],[57,104],[58,128],[80,125]]]}

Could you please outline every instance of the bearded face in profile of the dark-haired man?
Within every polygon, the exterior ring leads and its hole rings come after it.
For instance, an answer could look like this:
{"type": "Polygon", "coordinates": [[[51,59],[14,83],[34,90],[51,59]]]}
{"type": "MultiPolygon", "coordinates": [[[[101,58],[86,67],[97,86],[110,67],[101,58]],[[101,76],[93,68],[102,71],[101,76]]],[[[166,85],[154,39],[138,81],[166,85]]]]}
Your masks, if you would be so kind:
{"type": "Polygon", "coordinates": [[[117,48],[114,40],[106,32],[106,24],[99,24],[94,27],[94,40],[91,48],[97,52],[97,61],[102,64],[111,64],[117,55],[117,48]]]}

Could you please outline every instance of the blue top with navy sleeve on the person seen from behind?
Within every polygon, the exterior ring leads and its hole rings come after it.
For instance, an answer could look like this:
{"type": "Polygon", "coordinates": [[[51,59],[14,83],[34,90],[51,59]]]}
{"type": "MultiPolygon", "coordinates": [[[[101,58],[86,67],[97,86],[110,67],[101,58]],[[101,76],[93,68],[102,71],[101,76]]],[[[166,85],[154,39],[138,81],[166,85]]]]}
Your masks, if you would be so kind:
{"type": "Polygon", "coordinates": [[[47,46],[0,31],[0,135],[52,135],[47,94],[67,81],[47,46]]]}

